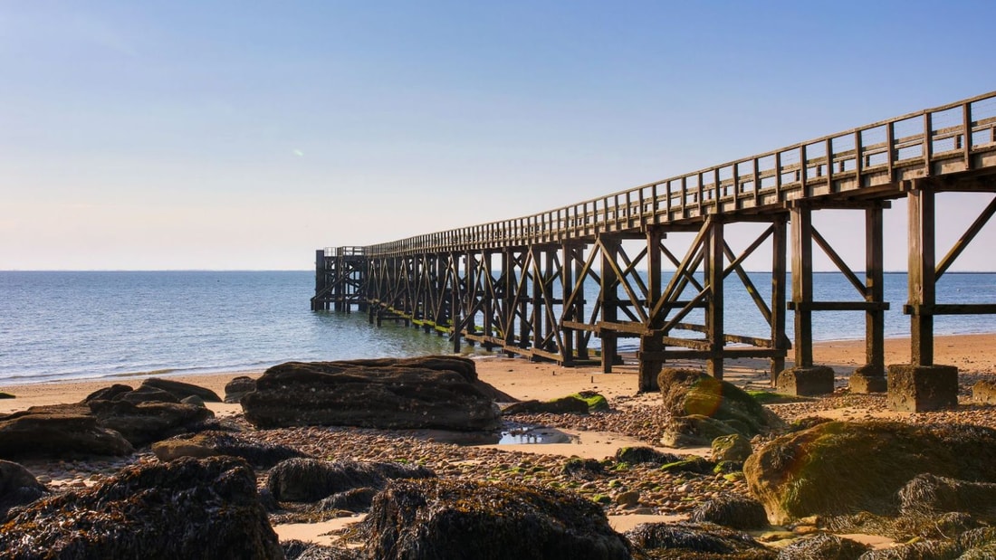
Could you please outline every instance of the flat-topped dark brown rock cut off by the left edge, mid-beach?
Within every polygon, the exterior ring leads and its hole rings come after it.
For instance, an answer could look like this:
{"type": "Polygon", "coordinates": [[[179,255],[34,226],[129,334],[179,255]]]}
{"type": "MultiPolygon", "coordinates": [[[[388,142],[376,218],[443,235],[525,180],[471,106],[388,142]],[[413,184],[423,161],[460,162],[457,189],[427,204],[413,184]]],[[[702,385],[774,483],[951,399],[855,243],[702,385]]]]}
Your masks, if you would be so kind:
{"type": "Polygon", "coordinates": [[[0,416],[0,457],[131,455],[121,434],[88,413],[84,405],[57,405],[0,416]]]}

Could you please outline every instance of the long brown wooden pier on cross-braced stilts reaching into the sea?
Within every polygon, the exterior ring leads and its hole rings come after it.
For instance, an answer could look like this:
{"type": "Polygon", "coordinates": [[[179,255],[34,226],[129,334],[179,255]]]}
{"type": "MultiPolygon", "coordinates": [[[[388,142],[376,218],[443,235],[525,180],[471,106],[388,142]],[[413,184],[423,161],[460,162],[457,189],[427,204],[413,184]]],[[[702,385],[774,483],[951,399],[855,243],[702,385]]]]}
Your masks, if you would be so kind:
{"type": "Polygon", "coordinates": [[[532,216],[322,250],[312,308],[356,308],[372,321],[444,332],[454,351],[477,343],[564,365],[598,360],[607,372],[619,363],[618,340],[638,338],[641,390],[653,389],[661,364],[673,359],[703,360],[721,378],[726,359],[766,358],[775,383],[791,351],[794,376],[805,378],[819,369],[813,313],[859,310],[866,315],[867,364],[852,387],[880,391],[889,305],[882,295],[882,215],[891,200],[905,198],[903,311],[912,363],[889,366],[887,375],[891,381],[912,372],[913,394],[900,396],[917,410],[931,408],[937,403],[920,403],[928,391],[916,387],[942,375],[932,363],[933,317],[996,312],[996,302],[936,303],[937,281],[996,212],[994,198],[938,260],[935,199],[947,192],[996,193],[996,92],[532,216]],[[813,226],[813,214],[827,209],[864,213],[863,272],[852,271],[813,226]],[[727,235],[744,222],[767,228],[737,254],[727,235]],[[694,234],[690,247],[676,250],[668,240],[675,232],[694,234]],[[770,286],[755,285],[743,268],[762,246],[771,251],[770,286]],[[814,246],[854,284],[854,300],[814,300],[814,246]],[[670,269],[676,272],[664,272],[670,269]],[[765,336],[737,334],[736,325],[724,323],[723,280],[730,276],[770,326],[765,336]],[[593,282],[598,295],[586,297],[584,286],[593,282]],[[704,320],[691,322],[697,309],[704,320]],[[786,336],[789,312],[794,340],[786,336]],[[593,336],[601,340],[597,353],[593,336]]]}

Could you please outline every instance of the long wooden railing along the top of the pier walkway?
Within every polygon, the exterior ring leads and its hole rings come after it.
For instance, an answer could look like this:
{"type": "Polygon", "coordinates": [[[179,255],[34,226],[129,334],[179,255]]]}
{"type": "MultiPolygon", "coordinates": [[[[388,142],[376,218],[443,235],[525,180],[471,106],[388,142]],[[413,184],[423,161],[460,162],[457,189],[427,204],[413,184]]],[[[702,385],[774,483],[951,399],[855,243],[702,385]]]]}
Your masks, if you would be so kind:
{"type": "Polygon", "coordinates": [[[996,92],[531,216],[333,251],[387,257],[558,244],[709,214],[759,213],[796,199],[878,196],[876,188],[904,180],[993,166],[996,92]]]}

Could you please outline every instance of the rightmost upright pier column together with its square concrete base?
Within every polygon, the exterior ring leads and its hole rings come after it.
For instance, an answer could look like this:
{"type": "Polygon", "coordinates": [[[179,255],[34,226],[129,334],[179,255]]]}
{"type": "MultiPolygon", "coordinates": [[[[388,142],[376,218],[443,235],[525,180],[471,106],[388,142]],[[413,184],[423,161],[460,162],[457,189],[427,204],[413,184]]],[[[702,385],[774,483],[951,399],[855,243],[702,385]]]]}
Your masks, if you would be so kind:
{"type": "Polygon", "coordinates": [[[958,368],[933,363],[933,306],[936,303],[935,193],[929,182],[913,181],[909,208],[909,364],[888,366],[888,408],[923,412],[958,405],[958,368]]]}

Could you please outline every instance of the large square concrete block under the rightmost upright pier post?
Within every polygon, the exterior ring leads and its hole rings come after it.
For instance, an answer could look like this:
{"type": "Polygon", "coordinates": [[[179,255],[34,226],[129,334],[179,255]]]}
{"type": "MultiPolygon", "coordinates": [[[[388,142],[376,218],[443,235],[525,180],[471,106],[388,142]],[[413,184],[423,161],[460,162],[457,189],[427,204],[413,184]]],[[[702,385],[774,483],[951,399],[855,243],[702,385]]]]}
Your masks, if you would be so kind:
{"type": "Polygon", "coordinates": [[[958,406],[958,368],[945,365],[888,366],[888,408],[925,412],[958,406]]]}

